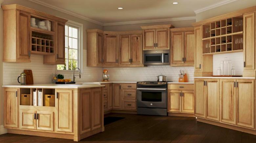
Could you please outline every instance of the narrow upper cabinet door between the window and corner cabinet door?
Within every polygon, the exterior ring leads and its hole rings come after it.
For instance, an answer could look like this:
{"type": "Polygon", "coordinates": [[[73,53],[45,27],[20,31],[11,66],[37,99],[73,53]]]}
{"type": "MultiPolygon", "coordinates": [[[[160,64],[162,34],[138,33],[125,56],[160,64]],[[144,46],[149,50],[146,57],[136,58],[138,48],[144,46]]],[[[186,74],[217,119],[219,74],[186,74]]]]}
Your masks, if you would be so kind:
{"type": "Polygon", "coordinates": [[[103,63],[103,34],[97,33],[97,66],[103,63]]]}

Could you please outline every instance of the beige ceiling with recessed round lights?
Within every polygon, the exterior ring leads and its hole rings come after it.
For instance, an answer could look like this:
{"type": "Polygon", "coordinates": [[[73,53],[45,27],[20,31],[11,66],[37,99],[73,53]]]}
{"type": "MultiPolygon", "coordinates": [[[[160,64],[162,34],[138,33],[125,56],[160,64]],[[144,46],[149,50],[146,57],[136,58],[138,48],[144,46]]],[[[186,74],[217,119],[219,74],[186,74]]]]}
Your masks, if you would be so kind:
{"type": "MultiPolygon", "coordinates": [[[[30,0],[85,17],[102,25],[194,17],[195,10],[234,0],[30,0]],[[179,2],[179,4],[172,4],[179,2]],[[122,7],[123,10],[118,10],[122,7]]],[[[195,18],[194,18],[195,19],[195,18]]]]}

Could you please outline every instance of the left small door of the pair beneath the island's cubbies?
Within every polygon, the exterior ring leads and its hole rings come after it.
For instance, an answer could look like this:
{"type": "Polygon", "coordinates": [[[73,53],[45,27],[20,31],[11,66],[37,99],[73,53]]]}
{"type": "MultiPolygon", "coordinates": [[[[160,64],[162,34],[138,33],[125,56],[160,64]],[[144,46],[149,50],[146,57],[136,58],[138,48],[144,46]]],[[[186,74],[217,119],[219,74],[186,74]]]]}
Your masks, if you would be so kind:
{"type": "Polygon", "coordinates": [[[36,129],[36,111],[20,110],[19,114],[20,129],[36,129]]]}

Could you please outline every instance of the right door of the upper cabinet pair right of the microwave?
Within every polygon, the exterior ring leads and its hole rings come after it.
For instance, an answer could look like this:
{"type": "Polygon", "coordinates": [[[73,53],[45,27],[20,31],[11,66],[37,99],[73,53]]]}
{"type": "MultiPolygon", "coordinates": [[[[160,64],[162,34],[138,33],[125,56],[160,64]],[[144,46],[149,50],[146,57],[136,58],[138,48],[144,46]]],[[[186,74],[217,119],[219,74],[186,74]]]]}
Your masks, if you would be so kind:
{"type": "Polygon", "coordinates": [[[195,34],[194,31],[184,32],[184,63],[194,65],[195,51],[195,34]]]}

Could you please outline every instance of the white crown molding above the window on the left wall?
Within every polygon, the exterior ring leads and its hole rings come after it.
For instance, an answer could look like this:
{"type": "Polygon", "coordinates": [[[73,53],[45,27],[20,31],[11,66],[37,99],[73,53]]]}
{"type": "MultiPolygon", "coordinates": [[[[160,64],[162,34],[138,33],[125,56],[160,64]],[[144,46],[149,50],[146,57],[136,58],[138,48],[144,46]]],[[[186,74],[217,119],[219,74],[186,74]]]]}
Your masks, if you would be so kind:
{"type": "MultiPolygon", "coordinates": [[[[1,0],[0,0],[0,1],[1,1],[1,0]]],[[[28,1],[34,2],[34,3],[36,3],[36,4],[39,4],[39,5],[42,5],[42,6],[51,8],[51,9],[54,9],[54,10],[61,11],[61,12],[63,12],[63,13],[66,13],[66,14],[69,14],[69,15],[72,15],[72,16],[75,16],[75,17],[78,17],[78,18],[81,18],[81,19],[83,19],[83,20],[87,20],[87,21],[96,23],[96,24],[98,24],[98,25],[100,25],[100,26],[103,26],[103,23],[101,23],[101,22],[99,22],[99,21],[96,21],[96,20],[93,20],[93,19],[91,19],[91,18],[85,17],[85,16],[83,16],[83,15],[81,15],[81,14],[72,12],[72,11],[70,11],[70,10],[65,10],[65,9],[62,9],[62,8],[59,8],[59,7],[56,7],[56,6],[47,4],[47,3],[43,2],[43,1],[40,1],[40,0],[28,0],[28,1]]]]}

